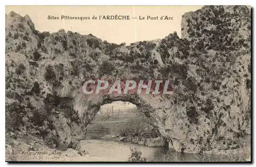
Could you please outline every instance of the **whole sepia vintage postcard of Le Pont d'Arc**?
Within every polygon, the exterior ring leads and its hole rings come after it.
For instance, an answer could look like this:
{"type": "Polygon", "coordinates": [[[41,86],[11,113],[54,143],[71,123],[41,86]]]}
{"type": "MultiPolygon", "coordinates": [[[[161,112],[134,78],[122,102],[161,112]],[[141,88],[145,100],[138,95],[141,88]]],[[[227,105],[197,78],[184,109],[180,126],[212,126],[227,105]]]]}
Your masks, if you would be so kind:
{"type": "Polygon", "coordinates": [[[251,161],[250,6],[6,6],[6,161],[251,161]]]}

